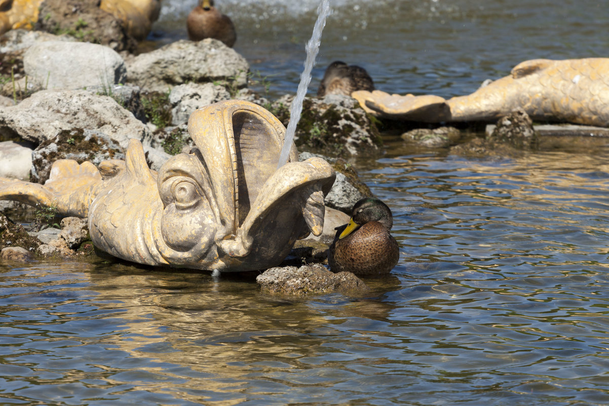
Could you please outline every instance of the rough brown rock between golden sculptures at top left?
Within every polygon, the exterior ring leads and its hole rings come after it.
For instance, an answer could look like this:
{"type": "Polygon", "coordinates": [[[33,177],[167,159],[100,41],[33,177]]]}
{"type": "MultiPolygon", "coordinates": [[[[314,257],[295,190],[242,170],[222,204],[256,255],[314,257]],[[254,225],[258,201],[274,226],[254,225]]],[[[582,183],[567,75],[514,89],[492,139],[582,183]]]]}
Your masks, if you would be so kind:
{"type": "Polygon", "coordinates": [[[99,8],[99,0],[44,0],[35,29],[68,34],[114,51],[133,51],[136,41],[122,21],[99,8]]]}

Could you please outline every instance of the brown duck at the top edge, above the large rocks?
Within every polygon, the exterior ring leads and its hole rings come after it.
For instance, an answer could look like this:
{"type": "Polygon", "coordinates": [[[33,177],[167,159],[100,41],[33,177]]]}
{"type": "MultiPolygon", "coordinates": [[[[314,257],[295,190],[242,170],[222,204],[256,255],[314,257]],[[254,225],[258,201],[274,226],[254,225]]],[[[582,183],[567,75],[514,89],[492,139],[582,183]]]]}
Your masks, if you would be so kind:
{"type": "Polygon", "coordinates": [[[233,21],[214,7],[214,0],[199,0],[186,19],[186,29],[191,41],[216,38],[232,47],[237,40],[233,21]]]}

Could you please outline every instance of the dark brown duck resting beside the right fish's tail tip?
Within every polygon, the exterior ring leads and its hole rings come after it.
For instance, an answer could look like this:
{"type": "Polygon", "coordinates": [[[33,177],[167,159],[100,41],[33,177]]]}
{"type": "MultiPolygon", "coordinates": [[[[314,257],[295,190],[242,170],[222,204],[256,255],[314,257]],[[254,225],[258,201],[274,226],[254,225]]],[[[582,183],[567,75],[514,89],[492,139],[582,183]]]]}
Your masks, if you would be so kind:
{"type": "Polygon", "coordinates": [[[366,69],[337,60],[326,68],[322,83],[317,89],[317,96],[323,97],[326,94],[351,96],[351,92],[356,90],[375,90],[372,78],[366,69]]]}

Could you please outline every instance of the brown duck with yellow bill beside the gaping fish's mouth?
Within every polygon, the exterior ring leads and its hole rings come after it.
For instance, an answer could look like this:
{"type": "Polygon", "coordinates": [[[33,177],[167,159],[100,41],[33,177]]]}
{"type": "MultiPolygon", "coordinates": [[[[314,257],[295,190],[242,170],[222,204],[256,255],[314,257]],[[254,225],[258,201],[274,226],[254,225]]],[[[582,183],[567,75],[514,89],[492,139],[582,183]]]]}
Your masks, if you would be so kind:
{"type": "Polygon", "coordinates": [[[389,233],[393,216],[386,204],[364,198],[353,206],[346,226],[337,227],[328,252],[333,272],[350,271],[356,275],[389,273],[398,263],[398,242],[389,233]]]}

